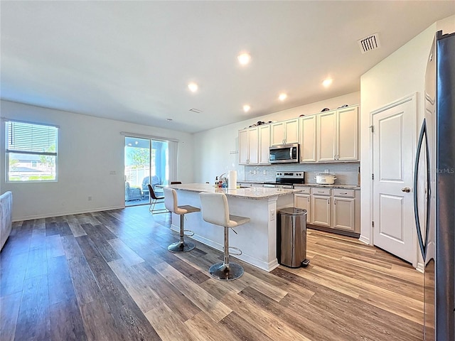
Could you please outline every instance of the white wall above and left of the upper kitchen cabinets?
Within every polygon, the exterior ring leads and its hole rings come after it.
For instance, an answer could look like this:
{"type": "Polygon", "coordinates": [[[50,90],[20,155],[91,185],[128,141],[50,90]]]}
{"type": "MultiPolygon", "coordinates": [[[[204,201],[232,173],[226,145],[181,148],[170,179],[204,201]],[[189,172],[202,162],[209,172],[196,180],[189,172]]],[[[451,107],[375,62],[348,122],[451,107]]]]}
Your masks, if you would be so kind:
{"type": "Polygon", "coordinates": [[[240,166],[238,131],[257,121],[283,121],[321,112],[323,108],[336,109],[343,104],[359,104],[360,92],[353,92],[321,102],[302,105],[292,109],[247,119],[228,126],[222,126],[194,135],[194,174],[197,183],[215,182],[215,176],[237,170],[237,180],[245,180],[245,166],[240,166]]]}

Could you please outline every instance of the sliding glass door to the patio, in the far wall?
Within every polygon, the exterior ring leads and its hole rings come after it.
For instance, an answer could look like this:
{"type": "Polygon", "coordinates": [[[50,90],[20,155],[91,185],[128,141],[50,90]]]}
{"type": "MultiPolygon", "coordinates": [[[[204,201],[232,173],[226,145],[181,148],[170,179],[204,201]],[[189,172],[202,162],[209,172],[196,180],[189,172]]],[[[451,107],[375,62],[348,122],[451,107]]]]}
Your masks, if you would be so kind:
{"type": "Polygon", "coordinates": [[[168,184],[168,141],[126,136],[124,148],[125,205],[147,204],[148,184],[154,190],[168,184]]]}

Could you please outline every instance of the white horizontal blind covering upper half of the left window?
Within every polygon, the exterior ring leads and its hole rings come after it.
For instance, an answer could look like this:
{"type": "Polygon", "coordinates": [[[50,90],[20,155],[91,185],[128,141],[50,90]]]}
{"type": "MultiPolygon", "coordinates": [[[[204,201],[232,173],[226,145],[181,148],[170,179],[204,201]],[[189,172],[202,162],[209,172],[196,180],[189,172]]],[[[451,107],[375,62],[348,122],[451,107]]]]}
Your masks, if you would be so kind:
{"type": "Polygon", "coordinates": [[[57,127],[17,121],[6,124],[7,153],[57,155],[57,127]]]}

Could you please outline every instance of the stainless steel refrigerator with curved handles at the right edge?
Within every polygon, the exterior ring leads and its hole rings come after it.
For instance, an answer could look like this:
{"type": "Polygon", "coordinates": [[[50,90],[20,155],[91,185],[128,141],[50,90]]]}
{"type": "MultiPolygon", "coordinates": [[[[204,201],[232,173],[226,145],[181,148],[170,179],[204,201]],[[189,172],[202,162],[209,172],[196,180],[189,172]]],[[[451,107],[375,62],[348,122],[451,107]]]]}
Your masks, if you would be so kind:
{"type": "Polygon", "coordinates": [[[414,217],[424,260],[424,340],[455,339],[455,33],[434,38],[414,167],[414,217]]]}

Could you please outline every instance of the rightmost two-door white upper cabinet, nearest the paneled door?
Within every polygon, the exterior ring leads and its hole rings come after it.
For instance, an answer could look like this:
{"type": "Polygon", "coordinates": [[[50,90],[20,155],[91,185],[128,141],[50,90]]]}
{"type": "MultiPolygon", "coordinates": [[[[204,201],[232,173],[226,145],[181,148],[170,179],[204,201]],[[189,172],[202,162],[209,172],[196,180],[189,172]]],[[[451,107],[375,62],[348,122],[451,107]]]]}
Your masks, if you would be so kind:
{"type": "Polygon", "coordinates": [[[358,106],[317,115],[317,161],[358,160],[358,106]]]}

